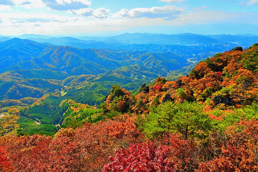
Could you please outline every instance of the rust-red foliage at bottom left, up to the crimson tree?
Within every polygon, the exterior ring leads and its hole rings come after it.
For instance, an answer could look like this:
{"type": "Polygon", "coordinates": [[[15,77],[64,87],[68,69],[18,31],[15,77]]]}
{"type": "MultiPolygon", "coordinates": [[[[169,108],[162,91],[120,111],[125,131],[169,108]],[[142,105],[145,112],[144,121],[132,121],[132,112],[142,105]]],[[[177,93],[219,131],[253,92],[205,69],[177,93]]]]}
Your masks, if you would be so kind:
{"type": "Polygon", "coordinates": [[[3,136],[0,171],[100,172],[116,149],[126,148],[130,142],[142,142],[134,118],[124,115],[76,130],[62,128],[53,139],[40,135],[3,136]]]}

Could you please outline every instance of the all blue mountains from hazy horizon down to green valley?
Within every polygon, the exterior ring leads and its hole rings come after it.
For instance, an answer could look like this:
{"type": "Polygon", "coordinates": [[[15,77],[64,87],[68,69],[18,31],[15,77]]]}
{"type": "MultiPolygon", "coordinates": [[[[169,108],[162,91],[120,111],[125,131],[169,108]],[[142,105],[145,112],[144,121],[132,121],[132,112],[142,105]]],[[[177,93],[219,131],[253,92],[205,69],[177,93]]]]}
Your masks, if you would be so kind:
{"type": "Polygon", "coordinates": [[[99,104],[112,85],[132,93],[157,77],[176,79],[197,62],[253,35],[122,34],[112,37],[0,36],[0,100],[38,98],[66,89],[66,98],[99,104]],[[90,48],[90,49],[89,49],[90,48]]]}

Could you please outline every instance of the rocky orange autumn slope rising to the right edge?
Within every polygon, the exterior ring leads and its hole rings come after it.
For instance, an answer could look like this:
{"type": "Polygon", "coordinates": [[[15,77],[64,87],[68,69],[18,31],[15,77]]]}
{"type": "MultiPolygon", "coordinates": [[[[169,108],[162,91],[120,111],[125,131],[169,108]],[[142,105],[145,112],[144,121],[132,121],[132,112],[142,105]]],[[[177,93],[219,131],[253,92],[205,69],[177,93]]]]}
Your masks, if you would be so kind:
{"type": "Polygon", "coordinates": [[[145,99],[147,105],[165,101],[198,101],[208,109],[230,109],[258,101],[258,44],[246,51],[231,50],[198,63],[177,81],[157,79],[148,93],[140,93],[135,101],[145,99]],[[157,100],[158,99],[158,100],[157,100]]]}

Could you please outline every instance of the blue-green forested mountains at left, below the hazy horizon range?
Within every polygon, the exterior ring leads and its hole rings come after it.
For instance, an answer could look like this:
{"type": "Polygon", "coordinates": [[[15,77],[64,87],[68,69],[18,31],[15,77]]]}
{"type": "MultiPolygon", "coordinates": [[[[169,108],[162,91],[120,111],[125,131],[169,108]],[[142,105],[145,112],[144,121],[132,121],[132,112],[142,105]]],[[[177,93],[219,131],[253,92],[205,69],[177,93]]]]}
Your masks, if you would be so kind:
{"type": "Polygon", "coordinates": [[[19,38],[0,42],[0,54],[0,100],[36,98],[71,87],[67,96],[94,104],[103,100],[113,84],[135,90],[142,82],[194,64],[187,60],[189,56],[171,52],[79,49],[19,38]],[[102,91],[95,92],[93,83],[102,91]],[[95,100],[85,99],[94,96],[95,100]]]}

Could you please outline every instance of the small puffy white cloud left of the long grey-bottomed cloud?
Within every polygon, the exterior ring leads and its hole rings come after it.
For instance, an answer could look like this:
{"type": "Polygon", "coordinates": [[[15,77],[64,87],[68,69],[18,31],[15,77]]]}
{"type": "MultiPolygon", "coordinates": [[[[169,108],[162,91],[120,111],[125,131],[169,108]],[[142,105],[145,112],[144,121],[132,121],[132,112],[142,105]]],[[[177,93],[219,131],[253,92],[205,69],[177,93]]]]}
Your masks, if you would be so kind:
{"type": "Polygon", "coordinates": [[[82,8],[79,10],[68,10],[67,12],[73,13],[74,15],[82,15],[85,17],[95,17],[95,18],[103,19],[108,17],[110,10],[105,8],[98,8],[98,9],[82,8]]]}

